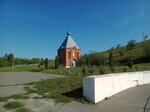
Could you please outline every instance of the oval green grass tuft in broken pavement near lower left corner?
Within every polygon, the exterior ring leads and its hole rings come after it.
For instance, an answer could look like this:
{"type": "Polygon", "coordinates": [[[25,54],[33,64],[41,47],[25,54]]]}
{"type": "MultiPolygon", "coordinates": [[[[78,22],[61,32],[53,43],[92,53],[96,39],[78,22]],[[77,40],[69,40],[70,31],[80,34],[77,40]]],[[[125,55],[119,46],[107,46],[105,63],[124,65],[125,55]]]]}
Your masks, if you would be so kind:
{"type": "Polygon", "coordinates": [[[23,107],[24,104],[22,104],[21,102],[18,102],[18,101],[12,101],[12,102],[9,102],[7,104],[4,105],[4,108],[8,109],[8,110],[11,110],[11,109],[17,109],[17,108],[20,108],[20,107],[23,107]]]}

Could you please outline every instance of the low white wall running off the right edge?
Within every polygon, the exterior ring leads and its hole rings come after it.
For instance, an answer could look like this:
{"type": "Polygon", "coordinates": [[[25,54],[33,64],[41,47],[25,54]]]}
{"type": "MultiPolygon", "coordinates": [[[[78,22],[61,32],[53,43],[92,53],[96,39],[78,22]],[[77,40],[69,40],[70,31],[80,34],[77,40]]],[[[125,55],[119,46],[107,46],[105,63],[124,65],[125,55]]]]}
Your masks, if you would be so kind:
{"type": "Polygon", "coordinates": [[[83,79],[83,96],[98,103],[128,88],[150,83],[150,71],[88,76],[83,79]]]}

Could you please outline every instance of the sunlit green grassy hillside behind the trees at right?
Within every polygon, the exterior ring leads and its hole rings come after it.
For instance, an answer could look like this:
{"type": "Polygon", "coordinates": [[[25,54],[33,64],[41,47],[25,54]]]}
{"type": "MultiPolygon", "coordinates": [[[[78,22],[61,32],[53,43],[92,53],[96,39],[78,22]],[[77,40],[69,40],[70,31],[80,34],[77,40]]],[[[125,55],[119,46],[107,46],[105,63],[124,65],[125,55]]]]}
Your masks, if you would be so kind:
{"type": "MultiPolygon", "coordinates": [[[[122,46],[120,48],[114,48],[112,49],[114,61],[120,64],[126,64],[128,62],[128,59],[131,57],[135,64],[145,63],[147,62],[144,54],[145,46],[150,46],[150,40],[136,43],[135,47],[131,50],[127,50],[126,46],[122,46]]],[[[99,54],[108,57],[109,50],[99,52],[99,54]]]]}

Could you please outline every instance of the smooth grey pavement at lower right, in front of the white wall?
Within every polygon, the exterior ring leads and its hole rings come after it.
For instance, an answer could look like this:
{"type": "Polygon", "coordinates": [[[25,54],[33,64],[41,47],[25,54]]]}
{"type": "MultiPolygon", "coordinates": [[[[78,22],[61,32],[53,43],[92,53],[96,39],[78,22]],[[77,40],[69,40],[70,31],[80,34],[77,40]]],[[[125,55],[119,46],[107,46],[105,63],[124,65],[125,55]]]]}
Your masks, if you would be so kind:
{"type": "Polygon", "coordinates": [[[150,84],[130,88],[96,105],[71,102],[53,112],[150,112],[150,84]]]}

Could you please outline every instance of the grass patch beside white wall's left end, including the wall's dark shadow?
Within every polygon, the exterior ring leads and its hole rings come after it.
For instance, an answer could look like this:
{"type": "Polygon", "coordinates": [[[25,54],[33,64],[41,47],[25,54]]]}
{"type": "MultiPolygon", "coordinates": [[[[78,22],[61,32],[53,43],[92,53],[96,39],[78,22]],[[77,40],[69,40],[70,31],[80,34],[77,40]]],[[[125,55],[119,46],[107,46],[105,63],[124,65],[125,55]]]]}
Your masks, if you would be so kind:
{"type": "Polygon", "coordinates": [[[53,98],[56,102],[81,101],[82,77],[72,76],[57,79],[48,79],[34,83],[37,93],[43,98],[53,98]],[[81,88],[81,89],[80,89],[81,88]],[[45,93],[50,93],[45,95],[45,93]]]}

